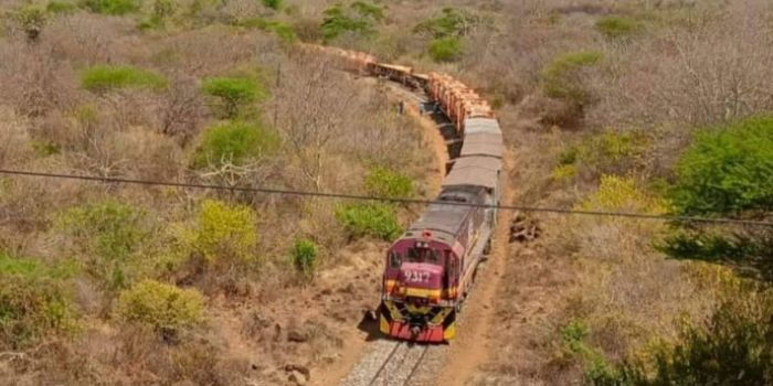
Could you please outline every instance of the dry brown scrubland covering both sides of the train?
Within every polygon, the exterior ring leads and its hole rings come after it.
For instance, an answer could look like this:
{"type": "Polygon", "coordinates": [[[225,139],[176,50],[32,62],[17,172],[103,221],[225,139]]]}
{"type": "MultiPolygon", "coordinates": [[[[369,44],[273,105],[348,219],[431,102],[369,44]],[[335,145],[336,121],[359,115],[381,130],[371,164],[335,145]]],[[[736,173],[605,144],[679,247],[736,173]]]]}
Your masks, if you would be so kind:
{"type": "MultiPolygon", "coordinates": [[[[762,0],[61,0],[0,12],[11,169],[431,194],[417,128],[298,40],[479,88],[515,149],[522,204],[678,212],[669,186],[696,132],[773,108],[762,0]]],[[[770,218],[770,201],[752,212],[719,214],[770,218]]],[[[378,239],[413,214],[1,178],[0,383],[280,384],[309,368],[314,380],[377,300],[378,239]]],[[[470,382],[600,383],[621,361],[647,367],[718,305],[764,298],[726,265],[668,259],[656,246],[670,225],[540,219],[543,237],[508,256],[496,355],[470,382]]]]}

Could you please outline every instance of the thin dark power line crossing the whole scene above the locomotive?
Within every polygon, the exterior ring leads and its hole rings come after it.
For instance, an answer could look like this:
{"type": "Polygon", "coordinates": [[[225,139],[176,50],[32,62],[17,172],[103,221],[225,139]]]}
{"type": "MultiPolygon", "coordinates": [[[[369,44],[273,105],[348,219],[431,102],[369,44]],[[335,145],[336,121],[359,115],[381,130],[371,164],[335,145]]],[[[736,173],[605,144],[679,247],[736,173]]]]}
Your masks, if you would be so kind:
{"type": "Polygon", "coordinates": [[[431,201],[431,200],[416,200],[416,199],[379,197],[379,196],[368,196],[368,195],[357,195],[357,194],[309,192],[309,191],[282,190],[282,189],[269,189],[269,187],[223,186],[223,185],[200,184],[200,183],[182,183],[182,182],[168,182],[168,181],[148,181],[148,180],[104,178],[104,176],[94,176],[94,175],[43,173],[43,172],[32,172],[32,171],[24,171],[24,170],[3,170],[3,169],[0,169],[0,174],[19,175],[19,176],[36,176],[36,178],[47,178],[47,179],[94,181],[94,182],[100,182],[100,183],[121,183],[121,184],[135,184],[135,185],[148,185],[148,186],[169,186],[169,187],[219,190],[219,191],[262,193],[262,194],[276,194],[276,195],[295,195],[295,196],[304,196],[304,197],[374,201],[374,202],[389,202],[389,203],[398,203],[398,204],[424,204],[424,205],[442,204],[442,205],[448,205],[448,206],[469,206],[469,207],[496,208],[496,210],[502,210],[502,211],[554,213],[554,214],[564,214],[564,215],[627,217],[627,218],[656,219],[656,221],[666,221],[666,222],[735,224],[735,225],[773,227],[773,222],[752,221],[752,219],[670,216],[670,215],[625,213],[625,212],[575,211],[575,210],[563,210],[563,208],[557,208],[557,207],[538,207],[538,206],[523,206],[523,205],[488,205],[488,204],[474,204],[474,203],[463,203],[463,202],[453,202],[453,201],[431,201]]]}

